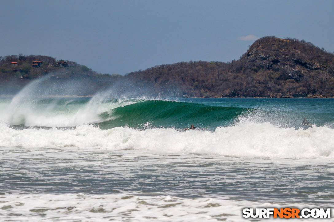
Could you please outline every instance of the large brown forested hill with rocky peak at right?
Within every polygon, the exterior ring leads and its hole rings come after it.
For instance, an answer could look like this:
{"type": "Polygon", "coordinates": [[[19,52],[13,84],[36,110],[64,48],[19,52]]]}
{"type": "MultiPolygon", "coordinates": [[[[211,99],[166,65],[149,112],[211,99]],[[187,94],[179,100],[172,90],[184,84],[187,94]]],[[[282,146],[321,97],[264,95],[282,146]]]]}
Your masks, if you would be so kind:
{"type": "Polygon", "coordinates": [[[333,97],[334,55],[310,42],[271,36],[236,61],[158,65],[126,78],[183,97],[333,97]]]}

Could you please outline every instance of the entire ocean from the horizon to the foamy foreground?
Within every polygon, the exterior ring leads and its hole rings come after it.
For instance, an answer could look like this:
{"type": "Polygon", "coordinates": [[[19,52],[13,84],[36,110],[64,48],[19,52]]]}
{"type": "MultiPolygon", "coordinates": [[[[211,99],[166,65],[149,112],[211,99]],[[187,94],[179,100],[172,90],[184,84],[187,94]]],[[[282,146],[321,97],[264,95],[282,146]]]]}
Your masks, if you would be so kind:
{"type": "Polygon", "coordinates": [[[242,209],[334,204],[334,99],[27,88],[0,98],[1,221],[263,221],[242,209]]]}

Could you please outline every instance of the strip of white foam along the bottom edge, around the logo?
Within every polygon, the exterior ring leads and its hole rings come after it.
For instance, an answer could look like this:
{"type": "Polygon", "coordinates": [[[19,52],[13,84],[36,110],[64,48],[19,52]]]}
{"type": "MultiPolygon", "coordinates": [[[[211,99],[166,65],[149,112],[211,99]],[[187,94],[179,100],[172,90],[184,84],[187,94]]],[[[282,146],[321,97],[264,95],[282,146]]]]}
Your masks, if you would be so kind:
{"type": "MultiPolygon", "coordinates": [[[[136,194],[28,194],[2,195],[0,218],[23,221],[243,221],[240,209],[281,208],[280,204],[233,201],[218,198],[138,196],[136,194]]],[[[291,204],[290,204],[291,205],[291,204]]],[[[293,204],[302,208],[315,205],[293,204]]],[[[279,220],[271,218],[266,220],[279,220]]],[[[298,221],[309,221],[299,219],[298,221]]],[[[312,219],[323,221],[324,219],[312,219]]],[[[260,221],[260,220],[252,220],[260,221]]]]}

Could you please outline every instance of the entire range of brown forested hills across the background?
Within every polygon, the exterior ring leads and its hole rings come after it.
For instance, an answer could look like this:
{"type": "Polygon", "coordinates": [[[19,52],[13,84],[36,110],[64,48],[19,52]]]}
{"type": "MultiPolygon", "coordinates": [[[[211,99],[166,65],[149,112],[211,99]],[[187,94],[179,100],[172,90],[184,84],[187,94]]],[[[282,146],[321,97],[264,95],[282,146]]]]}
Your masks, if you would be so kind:
{"type": "Polygon", "coordinates": [[[125,76],[49,56],[0,57],[0,95],[15,94],[44,76],[49,85],[81,83],[80,95],[117,85],[177,97],[334,97],[334,54],[310,42],[271,36],[255,41],[239,60],[157,65],[125,76]]]}

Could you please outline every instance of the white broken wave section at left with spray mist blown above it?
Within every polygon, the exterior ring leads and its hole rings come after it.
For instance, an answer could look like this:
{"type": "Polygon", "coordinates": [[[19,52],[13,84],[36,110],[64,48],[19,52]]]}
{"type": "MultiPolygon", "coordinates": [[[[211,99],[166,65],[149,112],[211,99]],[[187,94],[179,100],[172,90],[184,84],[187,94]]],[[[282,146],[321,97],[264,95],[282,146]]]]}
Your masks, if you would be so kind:
{"type": "MultiPolygon", "coordinates": [[[[106,120],[100,118],[101,113],[120,106],[126,98],[143,95],[144,91],[122,80],[90,96],[77,96],[91,92],[89,82],[50,82],[49,78],[45,76],[30,82],[11,98],[9,105],[8,97],[2,100],[0,121],[7,125],[40,127],[74,127],[96,123],[106,120]],[[86,92],[83,92],[85,89],[86,92]]],[[[149,88],[145,91],[150,94],[149,88]]]]}

